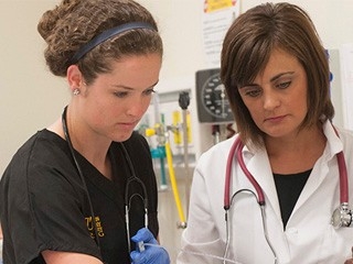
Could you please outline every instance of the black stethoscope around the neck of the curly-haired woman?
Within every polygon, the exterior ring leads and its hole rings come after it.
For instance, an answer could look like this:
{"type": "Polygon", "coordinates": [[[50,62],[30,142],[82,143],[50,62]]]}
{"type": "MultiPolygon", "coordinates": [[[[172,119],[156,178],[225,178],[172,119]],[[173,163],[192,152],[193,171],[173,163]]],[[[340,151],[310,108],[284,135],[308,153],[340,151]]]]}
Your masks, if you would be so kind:
{"type": "MultiPolygon", "coordinates": [[[[74,158],[75,166],[77,168],[78,175],[79,175],[81,180],[83,183],[84,190],[85,190],[85,193],[87,195],[90,216],[92,216],[93,223],[94,223],[93,226],[94,226],[94,231],[95,231],[95,241],[96,241],[96,243],[97,243],[97,245],[98,245],[98,248],[100,250],[99,235],[98,235],[97,227],[95,224],[95,213],[94,213],[90,196],[89,196],[89,193],[88,193],[86,179],[85,179],[85,177],[83,175],[82,168],[81,168],[81,166],[78,164],[78,161],[76,158],[76,155],[75,155],[74,146],[73,146],[72,141],[69,139],[68,129],[67,129],[67,122],[66,122],[66,112],[67,112],[67,107],[65,107],[65,109],[63,111],[63,114],[62,114],[63,130],[64,130],[64,134],[65,134],[65,139],[66,139],[66,142],[67,142],[69,152],[71,152],[71,154],[72,154],[72,156],[74,158]]],[[[126,222],[128,251],[130,252],[131,251],[131,242],[130,242],[129,211],[130,211],[130,206],[131,206],[131,199],[133,197],[139,197],[142,200],[143,208],[145,208],[145,228],[148,228],[148,195],[147,195],[147,189],[146,189],[146,186],[145,186],[143,182],[136,176],[131,158],[130,158],[129,153],[126,150],[124,143],[120,143],[120,146],[121,146],[121,150],[124,152],[124,156],[125,156],[125,158],[126,158],[126,161],[128,163],[129,170],[131,173],[131,176],[128,177],[127,184],[125,186],[125,220],[126,220],[125,222],[126,222]],[[138,183],[141,186],[143,196],[141,196],[140,194],[133,194],[133,195],[131,195],[129,197],[129,187],[130,187],[130,185],[132,183],[138,183]]]]}

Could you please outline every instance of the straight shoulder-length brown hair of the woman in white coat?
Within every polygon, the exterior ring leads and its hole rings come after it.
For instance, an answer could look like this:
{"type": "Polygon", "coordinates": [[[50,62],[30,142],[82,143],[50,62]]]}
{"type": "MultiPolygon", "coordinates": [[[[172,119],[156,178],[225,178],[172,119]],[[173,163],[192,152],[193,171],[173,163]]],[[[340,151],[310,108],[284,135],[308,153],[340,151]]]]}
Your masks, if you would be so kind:
{"type": "Polygon", "coordinates": [[[252,82],[265,68],[274,48],[297,57],[308,79],[308,113],[301,129],[332,119],[329,58],[317,30],[301,8],[290,3],[264,3],[240,14],[223,43],[221,79],[225,86],[240,139],[263,146],[264,132],[255,124],[238,88],[252,82]]]}

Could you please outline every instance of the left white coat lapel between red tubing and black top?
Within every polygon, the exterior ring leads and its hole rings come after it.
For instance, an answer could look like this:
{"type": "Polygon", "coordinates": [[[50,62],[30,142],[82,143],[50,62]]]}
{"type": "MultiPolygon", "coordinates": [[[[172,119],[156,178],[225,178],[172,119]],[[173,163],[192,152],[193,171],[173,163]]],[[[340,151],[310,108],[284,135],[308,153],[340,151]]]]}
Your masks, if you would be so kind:
{"type": "Polygon", "coordinates": [[[248,170],[264,191],[267,206],[271,206],[277,217],[281,219],[274,175],[269,165],[267,152],[261,150],[252,154],[244,147],[243,154],[248,170]]]}

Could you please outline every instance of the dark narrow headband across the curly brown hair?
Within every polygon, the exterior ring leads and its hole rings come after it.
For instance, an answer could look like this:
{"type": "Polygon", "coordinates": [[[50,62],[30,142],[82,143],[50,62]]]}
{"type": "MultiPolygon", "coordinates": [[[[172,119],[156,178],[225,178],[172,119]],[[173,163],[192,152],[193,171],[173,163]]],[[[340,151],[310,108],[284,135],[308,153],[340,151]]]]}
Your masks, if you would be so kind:
{"type": "Polygon", "coordinates": [[[83,45],[72,57],[71,64],[76,64],[84,55],[90,52],[95,46],[99,45],[100,43],[107,41],[108,38],[118,35],[125,31],[136,30],[136,29],[149,29],[156,31],[156,29],[148,23],[145,22],[131,22],[127,24],[121,24],[110,30],[101,32],[99,35],[92,38],[85,45],[83,45]]]}

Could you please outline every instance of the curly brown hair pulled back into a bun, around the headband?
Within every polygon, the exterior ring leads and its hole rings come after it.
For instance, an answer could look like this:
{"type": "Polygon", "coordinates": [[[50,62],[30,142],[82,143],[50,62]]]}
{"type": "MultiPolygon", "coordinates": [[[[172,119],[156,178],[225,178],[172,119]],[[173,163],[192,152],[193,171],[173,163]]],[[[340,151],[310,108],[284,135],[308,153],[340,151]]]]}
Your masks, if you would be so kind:
{"type": "Polygon", "coordinates": [[[135,29],[103,42],[77,65],[87,85],[97,74],[108,73],[110,62],[130,55],[157,53],[162,56],[162,40],[151,13],[132,0],[63,0],[46,11],[38,31],[47,47],[44,56],[50,70],[66,76],[74,54],[104,31],[129,22],[145,22],[156,29],[135,29]]]}

